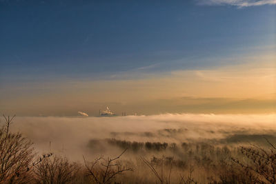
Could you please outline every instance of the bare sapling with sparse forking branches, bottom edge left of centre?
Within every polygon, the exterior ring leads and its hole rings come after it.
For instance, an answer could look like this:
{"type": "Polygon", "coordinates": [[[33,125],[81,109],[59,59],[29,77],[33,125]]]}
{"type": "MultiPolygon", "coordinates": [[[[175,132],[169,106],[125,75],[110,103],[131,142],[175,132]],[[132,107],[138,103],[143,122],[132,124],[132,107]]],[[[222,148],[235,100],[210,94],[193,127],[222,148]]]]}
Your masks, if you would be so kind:
{"type": "MultiPolygon", "coordinates": [[[[126,152],[126,150],[124,150],[124,152],[126,152]]],[[[87,163],[83,156],[88,176],[97,184],[110,184],[117,175],[123,174],[126,171],[133,171],[132,168],[126,167],[119,161],[124,152],[114,159],[108,158],[106,160],[103,156],[100,156],[92,163],[87,163]]]]}

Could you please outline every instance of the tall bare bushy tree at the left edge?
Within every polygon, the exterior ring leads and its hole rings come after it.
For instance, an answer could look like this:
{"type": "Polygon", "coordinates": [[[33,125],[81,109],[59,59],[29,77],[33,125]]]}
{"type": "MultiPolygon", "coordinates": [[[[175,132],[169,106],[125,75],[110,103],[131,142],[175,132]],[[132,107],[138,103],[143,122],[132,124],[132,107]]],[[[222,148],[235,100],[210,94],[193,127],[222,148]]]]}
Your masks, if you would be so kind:
{"type": "Polygon", "coordinates": [[[34,157],[32,143],[20,133],[11,133],[14,116],[6,117],[0,128],[0,183],[29,183],[30,165],[34,157]]]}

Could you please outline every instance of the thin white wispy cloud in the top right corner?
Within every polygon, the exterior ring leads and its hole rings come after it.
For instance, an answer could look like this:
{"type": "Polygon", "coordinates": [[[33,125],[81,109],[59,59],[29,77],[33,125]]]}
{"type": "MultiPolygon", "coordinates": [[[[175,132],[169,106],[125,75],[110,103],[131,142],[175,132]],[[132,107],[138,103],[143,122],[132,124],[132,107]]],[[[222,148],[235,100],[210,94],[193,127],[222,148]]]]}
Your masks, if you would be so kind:
{"type": "Polygon", "coordinates": [[[209,6],[237,6],[239,8],[248,6],[274,5],[276,0],[198,0],[199,5],[209,6]]]}

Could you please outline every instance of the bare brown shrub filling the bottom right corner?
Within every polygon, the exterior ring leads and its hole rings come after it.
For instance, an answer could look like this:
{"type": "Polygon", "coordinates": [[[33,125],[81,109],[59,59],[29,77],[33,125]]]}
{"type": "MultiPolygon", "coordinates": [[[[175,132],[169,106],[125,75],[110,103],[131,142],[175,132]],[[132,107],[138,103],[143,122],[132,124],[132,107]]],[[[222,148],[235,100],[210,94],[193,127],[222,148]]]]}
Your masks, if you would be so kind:
{"type": "Polygon", "coordinates": [[[269,149],[257,145],[240,147],[241,155],[221,161],[214,168],[219,179],[210,183],[276,183],[276,148],[266,139],[269,149]]]}

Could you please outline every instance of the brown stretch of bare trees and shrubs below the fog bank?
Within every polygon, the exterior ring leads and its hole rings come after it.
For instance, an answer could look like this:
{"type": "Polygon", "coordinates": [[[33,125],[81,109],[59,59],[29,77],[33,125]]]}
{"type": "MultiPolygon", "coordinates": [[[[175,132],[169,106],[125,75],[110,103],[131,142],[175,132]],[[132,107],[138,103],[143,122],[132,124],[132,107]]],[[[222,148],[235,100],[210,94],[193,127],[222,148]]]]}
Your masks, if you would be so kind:
{"type": "Polygon", "coordinates": [[[13,117],[4,117],[0,183],[276,183],[276,147],[265,137],[268,147],[106,139],[121,154],[75,163],[50,152],[37,155],[28,139],[10,132],[13,117]]]}

